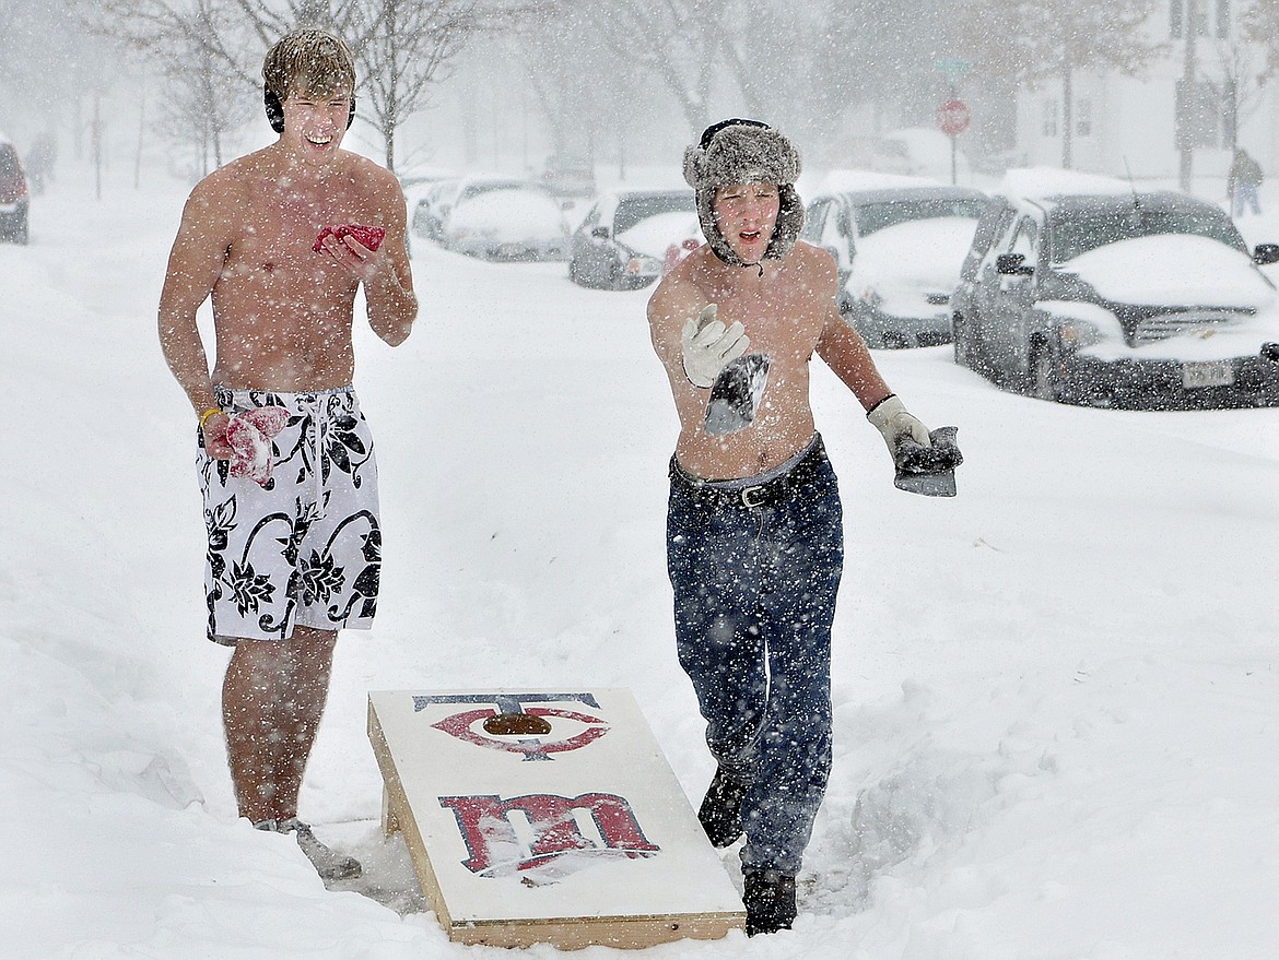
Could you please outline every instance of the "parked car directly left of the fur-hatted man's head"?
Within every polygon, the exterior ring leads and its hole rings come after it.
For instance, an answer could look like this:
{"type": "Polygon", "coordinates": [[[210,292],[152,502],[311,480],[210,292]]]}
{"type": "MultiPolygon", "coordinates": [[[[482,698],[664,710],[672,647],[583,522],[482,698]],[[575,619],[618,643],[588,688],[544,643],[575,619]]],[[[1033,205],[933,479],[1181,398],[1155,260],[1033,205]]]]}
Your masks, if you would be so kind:
{"type": "MultiPolygon", "coordinates": [[[[570,239],[569,279],[581,286],[638,290],[664,272],[671,245],[701,240],[692,190],[602,194],[570,239]]],[[[675,258],[678,261],[678,257],[675,258]]]]}

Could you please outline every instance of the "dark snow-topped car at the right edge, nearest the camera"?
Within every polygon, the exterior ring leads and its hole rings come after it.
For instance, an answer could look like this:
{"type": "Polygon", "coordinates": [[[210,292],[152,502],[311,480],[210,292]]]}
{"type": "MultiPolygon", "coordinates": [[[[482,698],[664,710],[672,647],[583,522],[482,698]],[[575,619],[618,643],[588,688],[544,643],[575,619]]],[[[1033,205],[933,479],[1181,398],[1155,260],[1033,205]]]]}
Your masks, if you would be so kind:
{"type": "Polygon", "coordinates": [[[955,362],[1063,403],[1279,405],[1275,262],[1188,194],[1009,171],[952,297],[955,362]]]}

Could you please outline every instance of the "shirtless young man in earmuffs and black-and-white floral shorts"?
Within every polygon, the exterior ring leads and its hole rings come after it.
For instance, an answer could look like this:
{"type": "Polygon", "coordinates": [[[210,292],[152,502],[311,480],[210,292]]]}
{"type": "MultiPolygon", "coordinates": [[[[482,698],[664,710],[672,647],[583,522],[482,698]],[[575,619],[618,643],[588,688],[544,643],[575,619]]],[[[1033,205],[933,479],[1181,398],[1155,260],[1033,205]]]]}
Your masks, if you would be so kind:
{"type": "Polygon", "coordinates": [[[298,791],[338,630],[368,628],[377,600],[377,468],[350,386],[356,291],[391,346],[409,335],[417,299],[398,182],[340,150],[356,88],[345,43],[295,31],[267,52],[262,75],[280,138],[192,192],[160,297],[160,343],[200,423],[208,637],[234,646],[223,721],[239,813],[295,832],[325,877],[352,877],[359,864],[297,819],[298,791]],[[313,249],[325,226],[352,222],[385,238],[373,249],[329,235],[313,249]],[[212,375],[196,325],[210,297],[212,375]]]}

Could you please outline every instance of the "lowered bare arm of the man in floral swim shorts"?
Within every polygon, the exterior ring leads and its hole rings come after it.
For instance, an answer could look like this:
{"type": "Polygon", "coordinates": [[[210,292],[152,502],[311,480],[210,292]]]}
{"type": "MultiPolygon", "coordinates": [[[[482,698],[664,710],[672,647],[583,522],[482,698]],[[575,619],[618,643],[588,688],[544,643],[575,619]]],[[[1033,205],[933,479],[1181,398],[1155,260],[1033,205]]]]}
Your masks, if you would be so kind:
{"type": "Polygon", "coordinates": [[[210,182],[196,187],[182,213],[160,294],[160,348],[197,414],[217,405],[196,312],[212,293],[231,242],[234,205],[210,182]]]}

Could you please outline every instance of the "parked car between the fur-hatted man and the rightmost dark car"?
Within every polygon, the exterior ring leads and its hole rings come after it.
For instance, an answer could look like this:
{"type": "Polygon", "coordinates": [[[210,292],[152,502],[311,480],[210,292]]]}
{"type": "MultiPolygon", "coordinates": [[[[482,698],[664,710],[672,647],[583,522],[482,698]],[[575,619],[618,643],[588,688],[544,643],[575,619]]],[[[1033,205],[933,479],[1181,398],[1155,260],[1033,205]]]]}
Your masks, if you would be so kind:
{"type": "Polygon", "coordinates": [[[950,291],[986,196],[881,174],[826,184],[853,189],[815,197],[803,239],[835,258],[839,312],[872,348],[949,343],[950,291]]]}

